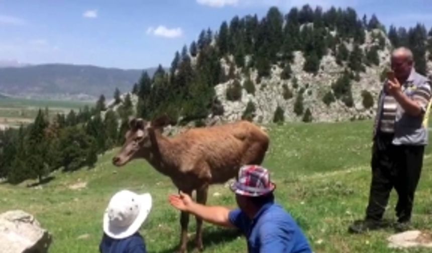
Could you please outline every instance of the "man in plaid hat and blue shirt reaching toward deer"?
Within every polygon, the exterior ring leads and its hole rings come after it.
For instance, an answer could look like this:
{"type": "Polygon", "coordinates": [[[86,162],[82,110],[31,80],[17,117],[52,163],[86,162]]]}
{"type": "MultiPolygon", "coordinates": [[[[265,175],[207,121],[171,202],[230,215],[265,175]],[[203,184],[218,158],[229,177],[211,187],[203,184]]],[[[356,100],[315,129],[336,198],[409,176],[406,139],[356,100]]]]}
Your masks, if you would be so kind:
{"type": "Polygon", "coordinates": [[[239,228],[247,238],[248,252],[312,252],[294,219],[274,202],[275,188],[267,169],[247,165],[240,169],[238,181],[231,186],[236,193],[237,209],[201,205],[182,192],[170,195],[169,202],[207,222],[239,228]]]}

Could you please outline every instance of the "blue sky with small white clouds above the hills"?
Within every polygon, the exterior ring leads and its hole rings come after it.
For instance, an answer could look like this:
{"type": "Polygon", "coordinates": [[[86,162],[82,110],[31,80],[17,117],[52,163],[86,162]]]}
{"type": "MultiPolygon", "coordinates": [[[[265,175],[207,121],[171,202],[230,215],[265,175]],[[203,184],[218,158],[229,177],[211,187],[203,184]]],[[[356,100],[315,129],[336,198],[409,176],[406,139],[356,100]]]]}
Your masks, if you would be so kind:
{"type": "Polygon", "coordinates": [[[204,28],[271,6],[310,4],[375,13],[387,27],[432,26],[430,0],[0,0],[0,61],[142,69],[169,66],[204,28]]]}

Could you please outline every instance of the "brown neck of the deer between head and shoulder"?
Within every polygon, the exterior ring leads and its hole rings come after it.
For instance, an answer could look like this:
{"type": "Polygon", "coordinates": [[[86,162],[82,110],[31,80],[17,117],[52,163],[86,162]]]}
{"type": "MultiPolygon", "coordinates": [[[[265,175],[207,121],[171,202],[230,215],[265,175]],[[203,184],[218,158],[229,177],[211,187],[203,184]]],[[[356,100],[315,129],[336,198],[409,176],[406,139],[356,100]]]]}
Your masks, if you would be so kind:
{"type": "Polygon", "coordinates": [[[175,177],[179,170],[180,148],[158,131],[150,131],[149,134],[152,148],[147,160],[160,173],[175,177]]]}

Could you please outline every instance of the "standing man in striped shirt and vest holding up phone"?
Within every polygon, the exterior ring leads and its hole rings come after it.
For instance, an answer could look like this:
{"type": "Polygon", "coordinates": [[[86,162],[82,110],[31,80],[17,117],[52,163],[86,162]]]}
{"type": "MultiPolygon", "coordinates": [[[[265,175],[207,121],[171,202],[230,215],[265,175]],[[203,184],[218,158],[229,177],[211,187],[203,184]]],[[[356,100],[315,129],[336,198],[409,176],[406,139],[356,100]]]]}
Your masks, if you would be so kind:
{"type": "Polygon", "coordinates": [[[353,233],[378,229],[390,191],[398,194],[395,229],[409,229],[414,192],[420,178],[431,88],[414,70],[412,52],[404,47],[391,54],[391,68],[378,100],[372,147],[372,182],[366,218],[349,227],[353,233]]]}

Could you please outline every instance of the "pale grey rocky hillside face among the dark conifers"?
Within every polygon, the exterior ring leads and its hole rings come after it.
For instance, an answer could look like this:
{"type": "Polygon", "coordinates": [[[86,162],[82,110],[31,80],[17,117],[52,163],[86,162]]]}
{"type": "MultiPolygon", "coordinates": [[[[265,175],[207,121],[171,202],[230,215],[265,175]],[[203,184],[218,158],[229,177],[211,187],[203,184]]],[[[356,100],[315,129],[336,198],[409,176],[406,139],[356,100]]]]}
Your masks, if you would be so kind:
{"type": "MultiPolygon", "coordinates": [[[[322,100],[323,96],[331,90],[331,85],[336,82],[346,68],[346,66],[340,66],[336,63],[334,53],[331,50],[321,59],[319,71],[316,75],[303,71],[305,59],[301,52],[294,52],[294,61],[291,64],[292,77],[289,80],[280,78],[282,68],[277,65],[272,66],[270,77],[262,78],[260,83],[255,82],[257,72],[253,71],[251,73],[251,80],[255,83],[255,95],[248,94],[243,89],[242,98],[239,101],[229,101],[226,92],[233,80],[217,85],[215,91],[225,110],[224,115],[218,117],[218,120],[233,121],[240,119],[247,103],[252,101],[256,107],[254,121],[271,122],[277,106],[284,110],[285,121],[300,121],[302,115],[297,116],[294,113],[294,102],[301,89],[304,90],[304,110],[309,108],[312,112],[313,121],[343,121],[374,117],[377,106],[376,100],[381,89],[380,75],[385,68],[389,67],[391,44],[381,30],[374,30],[366,33],[365,43],[361,46],[364,53],[366,53],[366,50],[378,45],[377,36],[374,36],[377,33],[381,33],[386,38],[384,50],[378,51],[380,64],[378,66],[365,66],[365,72],[360,72],[360,80],[351,81],[354,106],[348,107],[341,100],[337,100],[328,106],[322,100]],[[294,76],[298,81],[297,88],[293,87],[292,80],[294,76]],[[292,91],[292,98],[284,99],[283,85],[288,86],[292,91]],[[374,105],[371,108],[363,106],[363,90],[367,90],[374,98],[374,105]]],[[[347,48],[352,50],[352,45],[347,44],[347,48]]],[[[227,72],[229,67],[225,59],[221,63],[225,65],[227,72]]],[[[432,71],[432,62],[428,62],[428,67],[432,71]]],[[[244,83],[246,80],[244,74],[241,74],[239,69],[237,69],[236,74],[240,76],[241,83],[244,83]]],[[[430,74],[432,75],[432,72],[430,74]]]]}

